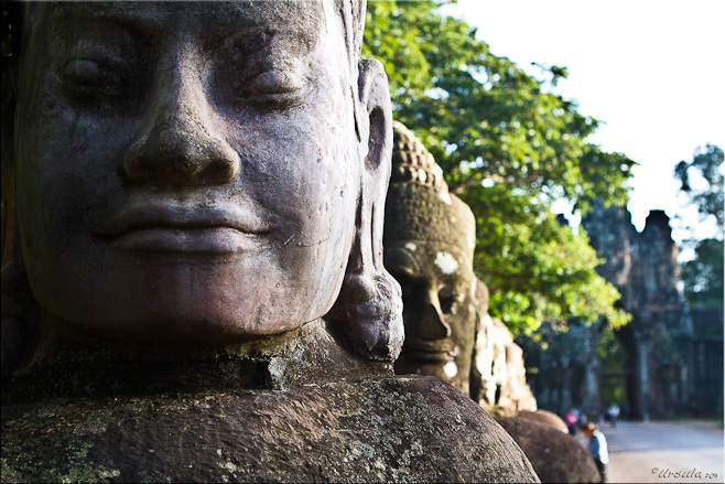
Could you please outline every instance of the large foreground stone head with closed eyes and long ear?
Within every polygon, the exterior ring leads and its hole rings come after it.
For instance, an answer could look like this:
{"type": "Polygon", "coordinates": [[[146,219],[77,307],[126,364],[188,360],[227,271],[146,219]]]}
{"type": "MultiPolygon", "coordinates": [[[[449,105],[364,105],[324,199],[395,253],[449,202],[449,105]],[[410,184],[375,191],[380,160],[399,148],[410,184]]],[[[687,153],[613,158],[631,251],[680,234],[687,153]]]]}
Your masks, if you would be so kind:
{"type": "Polygon", "coordinates": [[[397,356],[390,100],[381,65],[359,58],[364,0],[20,10],[3,370],[32,309],[42,327],[173,352],[327,315],[359,353],[397,356]]]}

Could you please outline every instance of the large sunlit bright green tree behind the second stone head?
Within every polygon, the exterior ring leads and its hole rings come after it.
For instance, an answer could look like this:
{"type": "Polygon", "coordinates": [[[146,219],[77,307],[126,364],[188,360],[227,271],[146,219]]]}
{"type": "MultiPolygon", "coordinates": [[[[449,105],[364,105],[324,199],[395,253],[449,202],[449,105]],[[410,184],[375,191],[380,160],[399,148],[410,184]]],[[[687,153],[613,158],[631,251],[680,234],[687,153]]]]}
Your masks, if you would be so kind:
{"type": "Polygon", "coordinates": [[[396,119],[476,214],[475,268],[491,289],[491,314],[516,333],[597,314],[624,324],[586,234],[560,224],[551,205],[565,198],[584,214],[595,197],[625,204],[634,162],[586,142],[597,120],[551,92],[565,68],[527,75],[437,13],[440,3],[370,2],[364,54],[386,67],[396,119]]]}

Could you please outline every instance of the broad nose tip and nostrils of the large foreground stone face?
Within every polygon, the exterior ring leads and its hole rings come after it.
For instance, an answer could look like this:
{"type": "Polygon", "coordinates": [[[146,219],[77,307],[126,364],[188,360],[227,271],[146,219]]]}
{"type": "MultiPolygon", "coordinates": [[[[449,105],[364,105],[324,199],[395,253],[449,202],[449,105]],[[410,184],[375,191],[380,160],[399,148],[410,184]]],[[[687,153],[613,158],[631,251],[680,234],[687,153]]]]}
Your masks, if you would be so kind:
{"type": "Polygon", "coordinates": [[[239,154],[207,119],[204,108],[188,100],[160,107],[161,112],[126,153],[123,171],[129,180],[173,186],[235,180],[239,154]]]}

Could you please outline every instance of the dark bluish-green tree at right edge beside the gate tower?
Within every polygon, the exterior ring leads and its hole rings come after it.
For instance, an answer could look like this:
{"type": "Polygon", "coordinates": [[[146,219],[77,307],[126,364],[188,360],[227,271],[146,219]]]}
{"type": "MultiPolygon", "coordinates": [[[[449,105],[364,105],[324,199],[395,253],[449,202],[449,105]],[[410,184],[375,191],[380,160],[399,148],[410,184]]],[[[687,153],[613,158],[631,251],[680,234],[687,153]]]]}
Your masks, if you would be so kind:
{"type": "Polygon", "coordinates": [[[680,190],[697,206],[697,222],[716,223],[715,237],[682,244],[695,255],[682,263],[684,294],[692,306],[723,308],[723,158],[719,147],[707,144],[695,151],[691,162],[681,161],[674,168],[680,190]]]}

